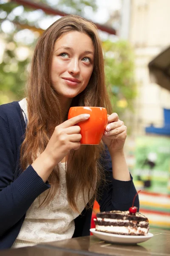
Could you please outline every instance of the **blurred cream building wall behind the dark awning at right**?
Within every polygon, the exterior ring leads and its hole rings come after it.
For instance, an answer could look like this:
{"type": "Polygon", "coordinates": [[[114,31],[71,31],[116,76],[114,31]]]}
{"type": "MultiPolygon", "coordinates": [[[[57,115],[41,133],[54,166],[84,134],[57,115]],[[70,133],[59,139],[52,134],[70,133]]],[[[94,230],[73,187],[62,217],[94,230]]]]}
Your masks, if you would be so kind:
{"type": "Polygon", "coordinates": [[[163,108],[170,109],[170,92],[150,82],[148,63],[170,45],[169,0],[122,0],[119,36],[135,52],[138,96],[135,101],[133,134],[145,134],[145,127],[164,123],[163,108]]]}

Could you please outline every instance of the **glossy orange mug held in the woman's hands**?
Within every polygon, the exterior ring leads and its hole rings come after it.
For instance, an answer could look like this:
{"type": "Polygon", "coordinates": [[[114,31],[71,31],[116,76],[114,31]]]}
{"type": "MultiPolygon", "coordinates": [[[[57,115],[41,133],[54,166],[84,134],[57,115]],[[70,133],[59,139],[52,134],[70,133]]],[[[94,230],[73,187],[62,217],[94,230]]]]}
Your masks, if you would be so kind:
{"type": "Polygon", "coordinates": [[[108,113],[106,108],[100,107],[71,107],[68,112],[68,119],[80,114],[90,114],[86,121],[77,123],[81,128],[81,144],[99,145],[105,128],[108,124],[108,113]]]}

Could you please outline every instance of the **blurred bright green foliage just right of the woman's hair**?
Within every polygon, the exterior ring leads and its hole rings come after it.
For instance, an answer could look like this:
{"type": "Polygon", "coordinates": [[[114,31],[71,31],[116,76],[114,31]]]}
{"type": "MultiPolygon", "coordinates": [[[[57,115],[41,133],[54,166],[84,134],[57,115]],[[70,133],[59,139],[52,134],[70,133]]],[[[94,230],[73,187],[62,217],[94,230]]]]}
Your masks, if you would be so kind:
{"type": "Polygon", "coordinates": [[[122,116],[125,109],[133,111],[136,97],[133,50],[127,41],[105,41],[103,48],[106,81],[113,94],[113,110],[122,116]]]}

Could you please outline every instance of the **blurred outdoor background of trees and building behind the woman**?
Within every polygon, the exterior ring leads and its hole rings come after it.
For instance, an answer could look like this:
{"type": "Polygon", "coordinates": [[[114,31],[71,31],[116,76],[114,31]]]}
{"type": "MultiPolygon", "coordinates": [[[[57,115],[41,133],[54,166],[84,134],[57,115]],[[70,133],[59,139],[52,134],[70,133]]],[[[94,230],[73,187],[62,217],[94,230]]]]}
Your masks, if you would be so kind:
{"type": "MultiPolygon", "coordinates": [[[[150,227],[170,230],[170,1],[0,0],[0,104],[24,97],[37,38],[63,15],[99,28],[113,111],[150,227]]],[[[99,206],[95,202],[93,218],[99,206]]],[[[94,221],[92,218],[92,227],[94,221]]]]}

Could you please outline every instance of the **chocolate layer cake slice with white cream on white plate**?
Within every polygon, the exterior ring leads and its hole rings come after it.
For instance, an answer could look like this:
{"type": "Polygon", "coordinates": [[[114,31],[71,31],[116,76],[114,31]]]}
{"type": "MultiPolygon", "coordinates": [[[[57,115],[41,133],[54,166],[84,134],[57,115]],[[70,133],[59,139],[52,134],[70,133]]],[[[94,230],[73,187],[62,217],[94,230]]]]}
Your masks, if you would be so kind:
{"type": "Polygon", "coordinates": [[[96,219],[96,231],[128,236],[146,236],[149,230],[148,219],[136,212],[129,211],[98,212],[96,219]]]}

